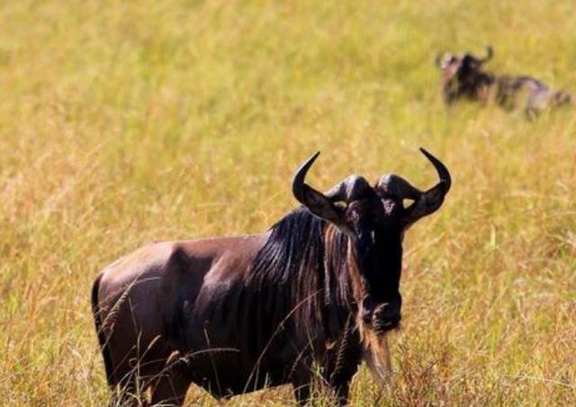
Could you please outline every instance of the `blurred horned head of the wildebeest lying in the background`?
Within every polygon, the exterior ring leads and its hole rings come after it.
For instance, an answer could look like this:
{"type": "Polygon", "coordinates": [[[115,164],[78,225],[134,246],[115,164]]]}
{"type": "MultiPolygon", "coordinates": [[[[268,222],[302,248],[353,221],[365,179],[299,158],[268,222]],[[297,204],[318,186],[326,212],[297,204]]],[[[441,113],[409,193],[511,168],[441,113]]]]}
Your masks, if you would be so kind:
{"type": "Polygon", "coordinates": [[[493,55],[490,46],[486,47],[484,58],[467,52],[455,55],[446,53],[444,57],[437,55],[436,65],[442,71],[446,103],[451,103],[463,95],[473,99],[482,97],[479,92],[490,82],[490,77],[482,72],[482,64],[488,62],[493,55]]]}

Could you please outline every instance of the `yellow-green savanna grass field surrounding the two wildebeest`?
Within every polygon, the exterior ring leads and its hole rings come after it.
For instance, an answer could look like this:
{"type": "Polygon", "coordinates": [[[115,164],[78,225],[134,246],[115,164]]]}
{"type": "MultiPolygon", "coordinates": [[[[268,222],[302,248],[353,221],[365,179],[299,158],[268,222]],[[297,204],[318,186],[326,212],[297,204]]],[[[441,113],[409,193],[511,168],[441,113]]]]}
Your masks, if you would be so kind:
{"type": "Polygon", "coordinates": [[[576,405],[576,107],[446,109],[434,65],[491,44],[576,93],[575,27],[552,0],[0,3],[0,403],[107,402],[90,288],[115,258],[265,231],[319,149],[322,190],[428,188],[422,146],[454,185],[404,241],[392,384],[362,368],[351,404],[576,405]]]}

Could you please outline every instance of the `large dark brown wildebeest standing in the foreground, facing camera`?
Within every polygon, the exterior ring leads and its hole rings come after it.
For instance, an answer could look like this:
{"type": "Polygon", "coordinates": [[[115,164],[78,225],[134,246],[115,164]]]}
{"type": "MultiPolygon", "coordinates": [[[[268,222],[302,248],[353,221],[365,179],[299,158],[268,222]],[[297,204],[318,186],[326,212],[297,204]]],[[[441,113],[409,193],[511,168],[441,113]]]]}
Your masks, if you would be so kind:
{"type": "MultiPolygon", "coordinates": [[[[92,303],[108,384],[119,402],[184,402],[293,384],[306,403],[314,372],[340,403],[374,340],[401,321],[402,240],[444,202],[451,178],[420,191],[388,174],[349,176],[322,194],[293,177],[302,203],[256,235],[149,244],[106,267],[92,303]],[[404,202],[407,202],[407,206],[404,202]],[[410,203],[410,204],[408,204],[410,203]]],[[[376,342],[378,342],[376,340],[376,342]]]]}

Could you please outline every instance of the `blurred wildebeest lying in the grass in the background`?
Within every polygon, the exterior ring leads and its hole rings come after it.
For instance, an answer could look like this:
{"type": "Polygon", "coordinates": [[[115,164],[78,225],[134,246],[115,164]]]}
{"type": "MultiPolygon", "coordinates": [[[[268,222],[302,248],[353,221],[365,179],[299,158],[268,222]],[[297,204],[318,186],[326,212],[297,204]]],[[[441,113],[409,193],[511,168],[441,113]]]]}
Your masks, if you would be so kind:
{"type": "Polygon", "coordinates": [[[570,104],[572,96],[554,91],[533,77],[496,76],[483,70],[494,52],[489,46],[486,56],[470,53],[437,55],[436,64],[442,71],[443,95],[446,104],[458,99],[488,103],[496,101],[507,110],[524,109],[527,117],[535,117],[545,109],[570,104]]]}

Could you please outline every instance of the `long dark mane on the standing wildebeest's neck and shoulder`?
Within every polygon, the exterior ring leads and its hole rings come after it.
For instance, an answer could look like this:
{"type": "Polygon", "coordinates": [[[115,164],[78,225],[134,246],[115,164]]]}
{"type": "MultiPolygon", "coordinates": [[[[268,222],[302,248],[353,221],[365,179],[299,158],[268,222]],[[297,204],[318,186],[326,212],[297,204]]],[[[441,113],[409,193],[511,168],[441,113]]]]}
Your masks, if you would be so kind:
{"type": "Polygon", "coordinates": [[[299,322],[339,323],[327,314],[327,305],[339,314],[338,305],[349,299],[347,246],[342,232],[301,206],[272,226],[247,270],[247,285],[258,292],[272,291],[277,301],[297,307],[299,322]]]}

